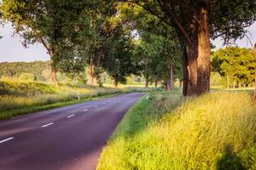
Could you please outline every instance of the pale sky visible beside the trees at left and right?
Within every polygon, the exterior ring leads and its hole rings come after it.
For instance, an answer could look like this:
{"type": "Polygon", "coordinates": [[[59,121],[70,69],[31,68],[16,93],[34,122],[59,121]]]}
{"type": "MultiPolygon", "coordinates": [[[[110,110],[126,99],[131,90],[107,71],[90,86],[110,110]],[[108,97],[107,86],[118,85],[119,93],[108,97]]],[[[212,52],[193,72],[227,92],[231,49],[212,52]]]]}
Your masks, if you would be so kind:
{"type": "MultiPolygon", "coordinates": [[[[1,0],[0,0],[1,1],[1,0]]],[[[256,42],[256,23],[247,28],[250,34],[251,42],[256,42]]],[[[42,44],[37,43],[31,45],[29,48],[24,48],[20,42],[19,36],[13,36],[13,28],[10,24],[2,27],[0,26],[0,35],[3,36],[0,39],[0,62],[15,62],[15,61],[35,61],[35,60],[49,60],[49,54],[47,54],[42,44]]],[[[220,38],[212,41],[216,48],[223,48],[223,42],[220,38]]],[[[247,38],[236,41],[239,47],[252,48],[251,43],[247,38]]]]}

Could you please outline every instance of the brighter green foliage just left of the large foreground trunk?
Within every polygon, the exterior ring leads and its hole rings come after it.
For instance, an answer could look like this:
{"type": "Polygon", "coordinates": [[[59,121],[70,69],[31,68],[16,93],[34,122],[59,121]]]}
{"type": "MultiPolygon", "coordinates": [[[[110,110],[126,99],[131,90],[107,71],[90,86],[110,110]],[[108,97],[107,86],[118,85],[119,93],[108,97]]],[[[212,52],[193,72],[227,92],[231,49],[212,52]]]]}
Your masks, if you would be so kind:
{"type": "Polygon", "coordinates": [[[122,3],[119,11],[139,36],[134,55],[144,77],[151,82],[166,82],[172,66],[175,77],[181,78],[180,47],[172,28],[134,4],[122,3]]]}

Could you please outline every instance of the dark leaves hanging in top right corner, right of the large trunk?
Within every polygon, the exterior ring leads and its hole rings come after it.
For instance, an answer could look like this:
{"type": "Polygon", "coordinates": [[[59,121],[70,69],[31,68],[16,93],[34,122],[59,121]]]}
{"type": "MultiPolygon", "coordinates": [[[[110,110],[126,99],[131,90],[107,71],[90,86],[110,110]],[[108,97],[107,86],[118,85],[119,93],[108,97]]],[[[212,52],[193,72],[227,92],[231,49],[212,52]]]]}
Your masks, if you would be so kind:
{"type": "Polygon", "coordinates": [[[256,20],[256,3],[251,0],[210,3],[212,37],[222,37],[224,42],[245,37],[247,26],[256,20]]]}

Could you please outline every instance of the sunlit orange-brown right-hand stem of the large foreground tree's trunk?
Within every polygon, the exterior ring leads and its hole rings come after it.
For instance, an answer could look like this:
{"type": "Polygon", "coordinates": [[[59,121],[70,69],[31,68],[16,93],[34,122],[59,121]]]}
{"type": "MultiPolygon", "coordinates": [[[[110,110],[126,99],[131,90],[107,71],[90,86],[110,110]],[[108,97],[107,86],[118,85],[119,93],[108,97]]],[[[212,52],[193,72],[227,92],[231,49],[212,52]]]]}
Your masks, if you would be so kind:
{"type": "Polygon", "coordinates": [[[210,90],[210,33],[209,18],[205,8],[201,8],[198,20],[198,77],[197,77],[197,94],[204,94],[210,90]]]}

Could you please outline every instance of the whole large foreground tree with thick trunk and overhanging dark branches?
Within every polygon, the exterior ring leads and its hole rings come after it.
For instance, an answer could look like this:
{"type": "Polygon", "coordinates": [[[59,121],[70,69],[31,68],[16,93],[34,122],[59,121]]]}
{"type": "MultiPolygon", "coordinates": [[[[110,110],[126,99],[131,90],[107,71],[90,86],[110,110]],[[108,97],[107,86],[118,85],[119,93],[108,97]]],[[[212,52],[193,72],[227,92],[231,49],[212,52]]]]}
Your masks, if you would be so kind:
{"type": "Polygon", "coordinates": [[[210,88],[210,37],[225,42],[244,36],[245,28],[256,20],[253,1],[212,0],[126,0],[137,4],[171,26],[183,53],[183,94],[201,94],[210,88]],[[236,11],[234,14],[234,11],[236,11]],[[187,69],[185,69],[187,68],[187,69]]]}

